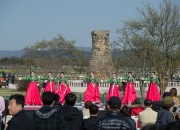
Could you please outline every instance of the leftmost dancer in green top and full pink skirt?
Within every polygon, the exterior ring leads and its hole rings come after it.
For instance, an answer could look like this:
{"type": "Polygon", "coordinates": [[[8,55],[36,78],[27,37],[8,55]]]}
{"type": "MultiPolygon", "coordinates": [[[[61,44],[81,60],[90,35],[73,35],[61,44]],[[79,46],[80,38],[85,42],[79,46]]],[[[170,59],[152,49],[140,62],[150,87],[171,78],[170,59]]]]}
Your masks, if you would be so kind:
{"type": "Polygon", "coordinates": [[[38,77],[35,76],[35,72],[31,72],[31,76],[22,77],[20,80],[30,81],[27,87],[25,104],[27,105],[42,105],[41,96],[38,88],[38,82],[40,81],[38,77]]]}

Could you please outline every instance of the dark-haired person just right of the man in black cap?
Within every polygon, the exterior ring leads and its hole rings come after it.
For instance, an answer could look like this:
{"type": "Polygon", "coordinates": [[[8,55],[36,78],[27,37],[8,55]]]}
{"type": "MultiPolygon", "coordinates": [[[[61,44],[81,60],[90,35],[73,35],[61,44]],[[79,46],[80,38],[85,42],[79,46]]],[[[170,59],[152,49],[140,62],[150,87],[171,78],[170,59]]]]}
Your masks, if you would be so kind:
{"type": "Polygon", "coordinates": [[[132,130],[136,130],[136,122],[134,119],[131,118],[131,108],[129,106],[124,105],[120,112],[131,123],[132,130]]]}

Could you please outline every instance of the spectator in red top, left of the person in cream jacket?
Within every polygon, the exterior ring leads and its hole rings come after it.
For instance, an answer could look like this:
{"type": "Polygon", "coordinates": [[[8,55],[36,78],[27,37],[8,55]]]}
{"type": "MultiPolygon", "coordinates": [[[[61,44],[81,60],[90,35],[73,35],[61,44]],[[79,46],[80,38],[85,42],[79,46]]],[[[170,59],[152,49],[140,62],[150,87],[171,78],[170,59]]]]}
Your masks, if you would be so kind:
{"type": "Polygon", "coordinates": [[[139,112],[144,110],[144,106],[141,104],[141,99],[137,97],[132,105],[131,108],[131,116],[138,116],[139,112]]]}

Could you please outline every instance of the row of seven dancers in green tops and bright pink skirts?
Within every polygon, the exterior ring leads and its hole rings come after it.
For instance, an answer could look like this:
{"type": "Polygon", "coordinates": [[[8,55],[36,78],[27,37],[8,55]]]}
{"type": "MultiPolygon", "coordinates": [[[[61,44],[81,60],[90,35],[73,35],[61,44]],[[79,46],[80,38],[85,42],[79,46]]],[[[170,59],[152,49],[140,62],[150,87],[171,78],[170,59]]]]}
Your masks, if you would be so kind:
{"type": "MultiPolygon", "coordinates": [[[[70,86],[68,79],[65,78],[64,72],[60,73],[59,77],[53,78],[52,73],[49,72],[47,77],[36,77],[35,73],[32,72],[30,77],[23,77],[20,80],[30,81],[26,91],[25,104],[28,105],[41,105],[41,97],[38,89],[38,82],[43,80],[46,85],[43,92],[51,91],[57,93],[60,97],[60,103],[64,103],[64,97],[66,94],[70,93],[70,86]],[[55,89],[55,82],[58,82],[57,90],[55,89]]],[[[130,105],[137,98],[137,93],[135,90],[134,82],[135,78],[132,76],[131,72],[128,72],[128,76],[122,79],[117,79],[116,74],[114,73],[111,79],[104,80],[103,82],[110,83],[109,91],[106,96],[106,101],[112,96],[121,98],[119,93],[119,87],[122,85],[121,81],[126,81],[126,87],[124,91],[124,96],[122,97],[123,104],[130,105]]],[[[158,89],[159,80],[156,77],[155,73],[152,72],[151,77],[142,78],[144,81],[150,81],[148,91],[146,93],[146,99],[152,101],[160,100],[160,93],[158,89]]],[[[95,103],[100,103],[100,92],[98,87],[98,79],[94,76],[94,73],[91,72],[90,76],[84,77],[84,81],[88,83],[87,89],[84,93],[84,102],[91,101],[95,103]]]]}

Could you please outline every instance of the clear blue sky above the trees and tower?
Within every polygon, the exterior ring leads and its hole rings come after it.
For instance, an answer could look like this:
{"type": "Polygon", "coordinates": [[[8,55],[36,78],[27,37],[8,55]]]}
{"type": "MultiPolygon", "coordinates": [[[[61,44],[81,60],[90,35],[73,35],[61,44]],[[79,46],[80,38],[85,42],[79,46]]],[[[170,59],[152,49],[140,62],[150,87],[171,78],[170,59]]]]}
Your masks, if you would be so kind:
{"type": "MultiPolygon", "coordinates": [[[[162,0],[0,0],[0,50],[20,50],[62,35],[91,47],[93,30],[110,30],[110,42],[123,21],[139,16],[144,3],[162,0]]],[[[173,0],[180,5],[180,0],[173,0]]]]}

